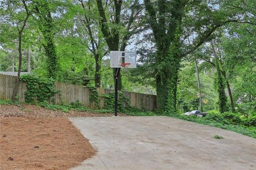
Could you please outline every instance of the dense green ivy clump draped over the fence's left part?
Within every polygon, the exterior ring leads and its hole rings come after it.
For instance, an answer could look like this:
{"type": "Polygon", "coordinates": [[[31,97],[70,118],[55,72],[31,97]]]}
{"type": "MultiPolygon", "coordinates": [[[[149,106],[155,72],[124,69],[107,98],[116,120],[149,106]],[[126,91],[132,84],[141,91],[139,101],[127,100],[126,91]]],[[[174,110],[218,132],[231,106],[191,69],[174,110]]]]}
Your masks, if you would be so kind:
{"type": "Polygon", "coordinates": [[[20,79],[27,83],[25,102],[45,102],[56,93],[52,78],[38,77],[35,75],[22,75],[20,79]]]}

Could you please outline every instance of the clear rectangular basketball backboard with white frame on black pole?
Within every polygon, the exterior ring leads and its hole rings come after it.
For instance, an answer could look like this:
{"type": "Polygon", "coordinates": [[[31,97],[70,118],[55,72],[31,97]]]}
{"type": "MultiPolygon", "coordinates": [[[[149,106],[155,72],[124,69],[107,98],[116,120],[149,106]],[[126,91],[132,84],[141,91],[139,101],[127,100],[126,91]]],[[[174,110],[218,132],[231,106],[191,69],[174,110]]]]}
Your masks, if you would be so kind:
{"type": "Polygon", "coordinates": [[[111,68],[136,68],[136,52],[132,51],[110,51],[110,67],[111,68]],[[122,55],[124,53],[124,63],[130,63],[123,65],[122,55]]]}

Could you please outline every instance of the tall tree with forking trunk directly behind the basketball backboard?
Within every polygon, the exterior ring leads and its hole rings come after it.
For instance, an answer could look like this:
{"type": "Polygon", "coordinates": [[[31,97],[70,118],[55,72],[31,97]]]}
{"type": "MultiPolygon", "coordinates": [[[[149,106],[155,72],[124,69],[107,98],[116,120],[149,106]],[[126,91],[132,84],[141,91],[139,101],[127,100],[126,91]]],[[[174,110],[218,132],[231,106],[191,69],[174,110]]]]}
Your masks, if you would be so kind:
{"type": "MultiPolygon", "coordinates": [[[[124,51],[131,36],[140,31],[138,28],[141,26],[139,17],[141,17],[142,8],[139,1],[130,1],[129,8],[131,11],[126,12],[126,15],[130,13],[128,17],[122,17],[122,0],[114,0],[114,4],[111,1],[106,1],[105,6],[103,6],[102,0],[97,0],[97,6],[101,17],[101,31],[109,51],[119,51],[119,49],[124,51]],[[114,8],[111,5],[113,5],[114,8]],[[109,13],[107,13],[106,9],[109,13]],[[137,20],[137,23],[135,23],[135,20],[137,20]],[[121,34],[122,32],[124,32],[124,34],[121,34]],[[123,38],[121,38],[121,36],[123,38]],[[119,47],[120,44],[121,47],[119,47]]],[[[115,74],[115,70],[113,71],[115,74]]],[[[119,75],[118,79],[118,89],[121,90],[121,75],[119,75]]]]}

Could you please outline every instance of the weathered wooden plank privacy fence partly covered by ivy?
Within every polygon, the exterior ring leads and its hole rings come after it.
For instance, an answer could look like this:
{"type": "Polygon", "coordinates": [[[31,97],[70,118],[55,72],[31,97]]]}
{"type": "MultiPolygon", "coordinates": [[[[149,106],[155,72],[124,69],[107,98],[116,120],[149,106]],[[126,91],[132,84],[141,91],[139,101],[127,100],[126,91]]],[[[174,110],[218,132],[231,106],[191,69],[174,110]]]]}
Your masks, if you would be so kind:
{"type": "MultiPolygon", "coordinates": [[[[0,99],[6,100],[12,98],[13,88],[15,85],[15,76],[7,76],[0,74],[0,99]]],[[[82,85],[74,85],[67,83],[55,82],[55,90],[59,90],[59,93],[55,94],[51,101],[54,104],[69,104],[71,102],[76,102],[77,100],[81,102],[84,106],[89,108],[104,108],[103,94],[109,94],[114,92],[113,90],[105,88],[97,88],[100,99],[99,103],[90,102],[91,90],[82,85]]],[[[25,92],[27,91],[26,83],[21,82],[19,86],[19,101],[25,101],[25,92]]],[[[154,110],[156,108],[156,95],[124,92],[124,96],[129,99],[130,106],[136,107],[141,110],[154,110]]],[[[124,107],[127,107],[126,103],[123,103],[124,107]]]]}

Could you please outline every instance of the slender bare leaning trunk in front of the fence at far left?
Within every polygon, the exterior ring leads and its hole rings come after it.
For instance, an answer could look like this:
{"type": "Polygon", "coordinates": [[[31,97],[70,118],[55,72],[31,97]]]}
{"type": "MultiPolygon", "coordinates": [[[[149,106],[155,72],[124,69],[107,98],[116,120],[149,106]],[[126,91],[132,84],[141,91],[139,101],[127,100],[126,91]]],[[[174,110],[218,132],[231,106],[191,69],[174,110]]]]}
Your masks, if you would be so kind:
{"type": "Polygon", "coordinates": [[[22,38],[22,32],[19,33],[19,47],[18,47],[19,68],[18,68],[18,75],[17,75],[17,79],[16,79],[16,82],[15,82],[14,90],[13,90],[13,93],[12,93],[12,100],[18,100],[17,94],[18,94],[19,85],[20,85],[20,71],[21,71],[21,63],[22,63],[21,38],[22,38]]]}

